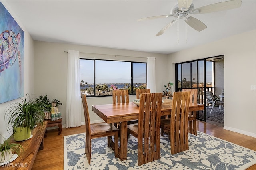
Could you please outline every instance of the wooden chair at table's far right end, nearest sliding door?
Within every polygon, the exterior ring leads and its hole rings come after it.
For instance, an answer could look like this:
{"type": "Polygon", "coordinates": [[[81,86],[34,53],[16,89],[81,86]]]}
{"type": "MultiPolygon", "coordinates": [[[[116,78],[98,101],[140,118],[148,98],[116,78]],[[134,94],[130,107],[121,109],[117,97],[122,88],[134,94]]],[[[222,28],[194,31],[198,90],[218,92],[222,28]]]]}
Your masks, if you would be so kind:
{"type": "MultiPolygon", "coordinates": [[[[182,89],[182,91],[190,91],[190,103],[197,103],[197,89],[182,89]]],[[[197,135],[196,128],[196,111],[192,111],[188,113],[188,132],[197,135]]]]}

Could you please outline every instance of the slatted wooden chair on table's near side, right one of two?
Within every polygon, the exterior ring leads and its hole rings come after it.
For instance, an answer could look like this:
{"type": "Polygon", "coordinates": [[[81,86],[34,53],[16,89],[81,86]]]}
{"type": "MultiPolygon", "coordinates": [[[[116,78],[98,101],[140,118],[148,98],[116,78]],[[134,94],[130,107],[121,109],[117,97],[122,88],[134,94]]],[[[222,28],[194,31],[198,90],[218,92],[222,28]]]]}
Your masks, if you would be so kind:
{"type": "Polygon", "coordinates": [[[161,130],[163,129],[169,132],[171,154],[188,150],[188,108],[190,93],[190,91],[174,92],[171,118],[161,120],[161,130]]]}

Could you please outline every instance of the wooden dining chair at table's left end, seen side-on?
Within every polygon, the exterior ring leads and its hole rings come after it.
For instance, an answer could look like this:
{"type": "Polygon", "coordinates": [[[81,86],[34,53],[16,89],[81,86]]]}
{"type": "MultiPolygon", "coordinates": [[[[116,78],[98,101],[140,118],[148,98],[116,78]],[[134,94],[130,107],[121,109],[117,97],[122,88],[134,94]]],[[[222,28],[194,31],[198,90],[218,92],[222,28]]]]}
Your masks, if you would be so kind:
{"type": "Polygon", "coordinates": [[[82,103],[84,107],[84,119],[85,119],[85,154],[88,163],[91,163],[91,152],[92,152],[92,139],[108,137],[108,147],[114,145],[115,157],[118,157],[118,128],[108,123],[95,123],[90,124],[89,111],[86,101],[86,95],[81,93],[82,103]],[[112,138],[114,136],[114,140],[112,138]]]}

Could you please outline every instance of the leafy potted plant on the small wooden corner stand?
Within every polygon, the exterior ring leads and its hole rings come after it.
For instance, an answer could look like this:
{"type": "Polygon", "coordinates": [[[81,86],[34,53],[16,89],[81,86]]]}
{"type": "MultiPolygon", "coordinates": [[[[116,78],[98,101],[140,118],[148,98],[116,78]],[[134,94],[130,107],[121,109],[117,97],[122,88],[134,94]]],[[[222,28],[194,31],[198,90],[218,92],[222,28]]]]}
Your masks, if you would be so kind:
{"type": "MultiPolygon", "coordinates": [[[[40,103],[41,105],[44,105],[44,119],[51,119],[51,109],[52,109],[52,103],[50,102],[50,99],[47,95],[39,96],[39,98],[36,98],[36,101],[40,103]]],[[[62,105],[58,99],[54,99],[53,101],[56,102],[56,106],[62,105]]]]}

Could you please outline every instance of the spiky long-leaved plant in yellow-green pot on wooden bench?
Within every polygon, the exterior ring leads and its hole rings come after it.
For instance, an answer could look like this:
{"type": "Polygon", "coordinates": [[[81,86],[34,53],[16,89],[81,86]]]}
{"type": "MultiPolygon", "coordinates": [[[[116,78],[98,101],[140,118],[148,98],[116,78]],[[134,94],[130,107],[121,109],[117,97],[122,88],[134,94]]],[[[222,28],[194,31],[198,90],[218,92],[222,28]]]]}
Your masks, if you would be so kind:
{"type": "Polygon", "coordinates": [[[6,110],[8,117],[7,130],[12,127],[14,140],[21,141],[30,138],[31,132],[35,125],[43,125],[44,107],[42,103],[38,103],[33,99],[29,99],[26,94],[22,102],[16,102],[10,105],[6,110]]]}

